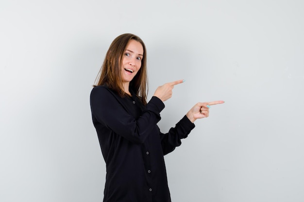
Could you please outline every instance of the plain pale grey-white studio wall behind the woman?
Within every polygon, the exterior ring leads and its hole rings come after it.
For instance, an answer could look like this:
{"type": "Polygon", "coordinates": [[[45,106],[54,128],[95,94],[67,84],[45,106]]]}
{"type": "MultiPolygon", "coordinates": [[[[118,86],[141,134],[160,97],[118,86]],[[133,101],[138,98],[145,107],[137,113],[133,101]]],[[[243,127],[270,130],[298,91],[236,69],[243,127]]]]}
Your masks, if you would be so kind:
{"type": "Polygon", "coordinates": [[[115,37],[148,50],[167,132],[224,100],[165,156],[173,202],[304,201],[304,1],[1,0],[0,201],[101,202],[89,94],[115,37]]]}

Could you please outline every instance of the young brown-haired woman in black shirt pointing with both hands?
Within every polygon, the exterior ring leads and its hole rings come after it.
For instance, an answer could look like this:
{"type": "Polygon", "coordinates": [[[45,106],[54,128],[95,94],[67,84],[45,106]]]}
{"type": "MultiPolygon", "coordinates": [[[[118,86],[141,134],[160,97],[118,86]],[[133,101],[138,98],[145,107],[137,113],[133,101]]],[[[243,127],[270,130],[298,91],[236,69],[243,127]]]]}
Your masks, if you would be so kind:
{"type": "Polygon", "coordinates": [[[163,102],[183,80],[158,87],[147,102],[146,58],[145,44],[138,36],[118,36],[90,95],[106,163],[103,202],[170,202],[164,155],[181,144],[196,119],[209,116],[210,105],[223,103],[197,103],[168,133],[160,132],[157,123],[163,102]]]}

